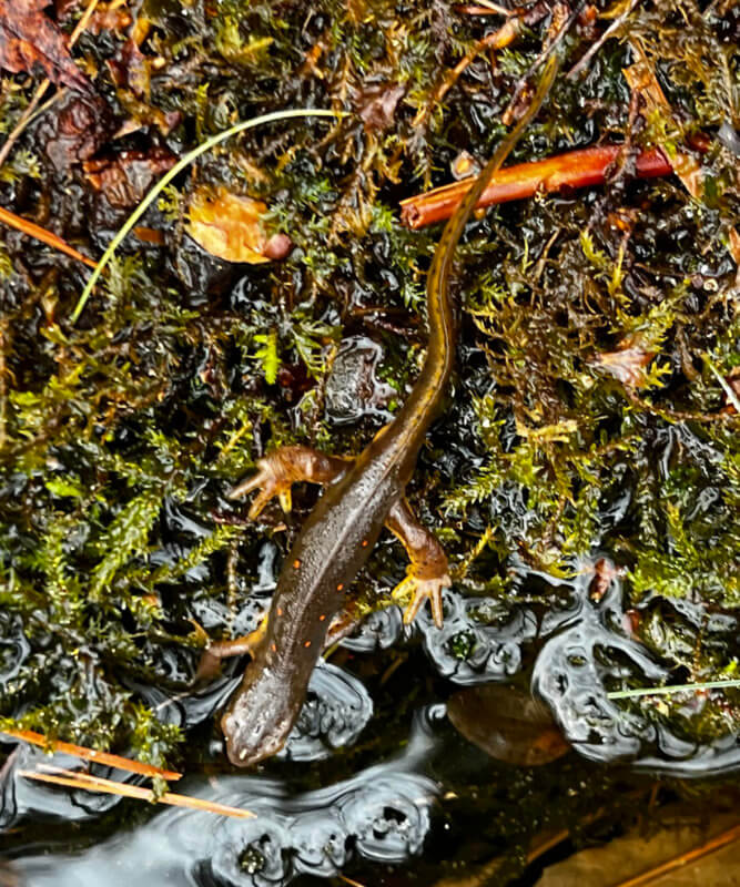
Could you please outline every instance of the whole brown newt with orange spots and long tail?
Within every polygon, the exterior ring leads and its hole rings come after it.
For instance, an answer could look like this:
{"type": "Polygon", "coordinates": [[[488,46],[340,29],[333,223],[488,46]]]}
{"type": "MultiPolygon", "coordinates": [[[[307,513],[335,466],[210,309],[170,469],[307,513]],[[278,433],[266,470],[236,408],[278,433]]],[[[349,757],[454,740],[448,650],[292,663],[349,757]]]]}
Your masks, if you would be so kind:
{"type": "MultiPolygon", "coordinates": [[[[352,461],[307,447],[284,447],[260,459],[259,472],[230,493],[236,498],[259,489],[250,510],[255,518],[273,496],[288,498],[294,481],[326,485],[287,555],[253,660],[221,718],[226,752],[236,766],[255,764],[285,744],[330,622],[384,526],[401,539],[410,559],[399,587],[413,592],[404,620],[413,620],[428,598],[434,620],[442,625],[442,590],[450,584],[447,558],[437,539],[415,520],[404,490],[453,369],[457,330],[447,290],[455,247],[488,180],[539,109],[555,69],[555,63],[548,64],[529,109],[445,226],[427,276],[426,359],[398,415],[352,461]]],[[[234,652],[243,652],[243,643],[232,643],[234,652]]],[[[229,645],[210,650],[226,655],[229,645]]]]}

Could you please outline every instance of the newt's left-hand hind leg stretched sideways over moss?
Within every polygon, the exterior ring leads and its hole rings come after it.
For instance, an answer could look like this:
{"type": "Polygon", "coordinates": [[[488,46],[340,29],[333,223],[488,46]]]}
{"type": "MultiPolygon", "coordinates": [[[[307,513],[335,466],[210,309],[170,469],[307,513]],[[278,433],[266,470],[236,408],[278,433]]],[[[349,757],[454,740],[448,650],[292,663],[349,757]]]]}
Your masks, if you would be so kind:
{"type": "Polygon", "coordinates": [[[291,487],[303,480],[311,483],[331,483],[347,470],[348,460],[325,456],[311,447],[280,447],[263,459],[257,459],[257,472],[229,491],[230,499],[259,490],[250,508],[255,520],[262,509],[277,497],[284,511],[291,510],[291,487]]]}

